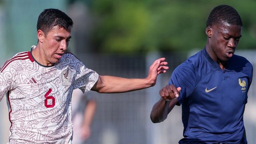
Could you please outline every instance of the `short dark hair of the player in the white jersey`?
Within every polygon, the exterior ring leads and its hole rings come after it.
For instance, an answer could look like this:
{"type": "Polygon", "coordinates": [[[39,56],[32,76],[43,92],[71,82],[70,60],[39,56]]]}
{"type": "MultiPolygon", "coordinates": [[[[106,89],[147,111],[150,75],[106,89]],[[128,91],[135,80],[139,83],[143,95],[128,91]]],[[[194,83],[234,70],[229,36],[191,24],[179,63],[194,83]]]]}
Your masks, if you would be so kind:
{"type": "Polygon", "coordinates": [[[72,19],[64,12],[58,9],[45,9],[37,20],[37,30],[42,30],[45,34],[49,32],[54,26],[60,26],[65,30],[73,26],[72,19]]]}

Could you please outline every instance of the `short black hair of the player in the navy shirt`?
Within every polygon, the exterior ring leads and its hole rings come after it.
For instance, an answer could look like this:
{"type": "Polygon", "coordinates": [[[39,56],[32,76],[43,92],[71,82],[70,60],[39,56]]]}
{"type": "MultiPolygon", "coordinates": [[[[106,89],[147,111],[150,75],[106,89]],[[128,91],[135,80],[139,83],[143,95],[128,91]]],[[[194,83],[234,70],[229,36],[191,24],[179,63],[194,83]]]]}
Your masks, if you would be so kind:
{"type": "Polygon", "coordinates": [[[223,22],[243,26],[240,15],[233,7],[228,5],[219,5],[211,11],[206,22],[206,27],[223,22]]]}

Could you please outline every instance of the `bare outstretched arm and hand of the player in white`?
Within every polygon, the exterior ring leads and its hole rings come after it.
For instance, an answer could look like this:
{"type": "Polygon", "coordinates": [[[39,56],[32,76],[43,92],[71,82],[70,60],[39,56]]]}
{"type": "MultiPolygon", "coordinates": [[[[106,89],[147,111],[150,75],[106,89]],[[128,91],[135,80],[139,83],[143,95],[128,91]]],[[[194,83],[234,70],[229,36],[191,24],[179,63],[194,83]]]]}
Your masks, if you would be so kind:
{"type": "Polygon", "coordinates": [[[122,93],[148,88],[156,84],[157,76],[166,73],[165,58],[157,59],[150,67],[148,76],[144,79],[127,79],[114,76],[99,76],[91,90],[99,93],[122,93]]]}

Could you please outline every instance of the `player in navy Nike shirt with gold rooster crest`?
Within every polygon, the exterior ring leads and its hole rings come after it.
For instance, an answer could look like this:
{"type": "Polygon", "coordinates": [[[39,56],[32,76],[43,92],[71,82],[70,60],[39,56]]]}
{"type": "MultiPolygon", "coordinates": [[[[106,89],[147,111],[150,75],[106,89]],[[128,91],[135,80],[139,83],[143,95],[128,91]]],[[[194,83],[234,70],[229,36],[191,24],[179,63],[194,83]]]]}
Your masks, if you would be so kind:
{"type": "Polygon", "coordinates": [[[184,138],[179,143],[246,144],[243,113],[253,67],[234,55],[242,20],[233,7],[220,5],[211,11],[205,32],[205,48],[174,70],[150,118],[162,122],[182,105],[184,138]]]}

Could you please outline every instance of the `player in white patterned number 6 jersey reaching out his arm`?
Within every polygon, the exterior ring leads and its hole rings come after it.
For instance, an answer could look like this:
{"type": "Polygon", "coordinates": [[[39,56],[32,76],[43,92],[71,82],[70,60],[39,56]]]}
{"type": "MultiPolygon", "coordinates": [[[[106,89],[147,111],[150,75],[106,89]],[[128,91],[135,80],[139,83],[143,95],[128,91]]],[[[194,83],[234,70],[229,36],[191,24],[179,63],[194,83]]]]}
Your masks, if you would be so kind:
{"type": "Polygon", "coordinates": [[[71,94],[120,93],[154,86],[168,69],[165,58],[156,60],[144,79],[100,76],[71,53],[65,53],[73,22],[57,9],[38,17],[38,43],[16,54],[0,68],[0,100],[7,94],[9,144],[71,144],[71,94]]]}

